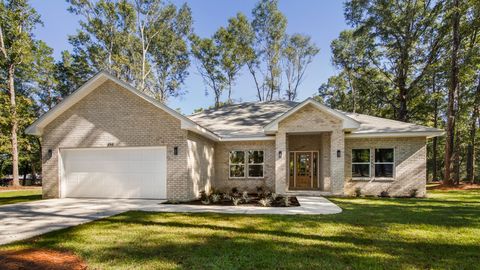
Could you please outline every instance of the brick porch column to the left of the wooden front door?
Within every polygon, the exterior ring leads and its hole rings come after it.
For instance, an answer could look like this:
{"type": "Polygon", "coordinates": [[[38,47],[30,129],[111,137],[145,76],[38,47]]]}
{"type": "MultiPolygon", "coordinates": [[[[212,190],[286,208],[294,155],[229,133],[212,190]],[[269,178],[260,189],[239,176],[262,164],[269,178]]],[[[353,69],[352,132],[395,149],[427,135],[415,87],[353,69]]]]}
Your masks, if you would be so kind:
{"type": "Polygon", "coordinates": [[[275,193],[277,194],[285,194],[287,191],[287,155],[287,134],[279,132],[275,139],[275,193]]]}

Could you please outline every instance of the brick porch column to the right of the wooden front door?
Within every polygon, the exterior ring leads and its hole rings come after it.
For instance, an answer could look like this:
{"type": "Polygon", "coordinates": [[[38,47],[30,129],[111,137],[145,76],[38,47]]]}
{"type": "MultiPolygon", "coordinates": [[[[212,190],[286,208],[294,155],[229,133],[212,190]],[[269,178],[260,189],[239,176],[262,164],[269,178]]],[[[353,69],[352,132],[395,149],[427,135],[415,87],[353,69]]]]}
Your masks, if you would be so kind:
{"type": "Polygon", "coordinates": [[[345,135],[343,130],[333,130],[330,143],[331,190],[333,194],[342,195],[345,180],[345,135]],[[337,151],[340,151],[340,157],[338,157],[337,151]]]}

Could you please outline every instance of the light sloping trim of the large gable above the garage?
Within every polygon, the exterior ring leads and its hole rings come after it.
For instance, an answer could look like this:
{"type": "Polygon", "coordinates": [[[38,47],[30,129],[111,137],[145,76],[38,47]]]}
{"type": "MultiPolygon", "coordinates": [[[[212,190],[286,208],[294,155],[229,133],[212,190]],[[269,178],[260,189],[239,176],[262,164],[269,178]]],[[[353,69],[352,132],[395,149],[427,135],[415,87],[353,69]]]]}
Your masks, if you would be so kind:
{"type": "Polygon", "coordinates": [[[41,117],[39,117],[32,125],[30,125],[25,132],[27,134],[31,135],[42,135],[43,133],[43,128],[46,127],[49,123],[51,123],[54,119],[56,119],[58,116],[60,116],[62,113],[67,111],[69,108],[71,108],[73,105],[75,105],[77,102],[82,100],[84,97],[86,97],[88,94],[90,94],[92,91],[97,89],[98,86],[106,82],[107,80],[113,81],[114,83],[118,84],[122,88],[126,89],[127,91],[135,94],[139,98],[142,98],[149,102],[150,104],[154,105],[155,107],[167,112],[171,116],[177,118],[180,120],[181,123],[181,128],[182,129],[187,129],[196,133],[200,133],[202,135],[205,135],[211,139],[217,140],[218,136],[215,135],[213,132],[201,127],[194,121],[188,119],[187,117],[183,116],[182,114],[178,113],[177,111],[169,108],[165,104],[145,95],[144,93],[138,91],[134,87],[132,87],[130,84],[123,82],[122,80],[117,79],[113,75],[101,71],[97,73],[95,76],[93,76],[91,79],[89,79],[86,83],[84,83],[80,88],[75,90],[72,94],[70,94],[67,98],[65,98],[63,101],[61,101],[59,104],[57,104],[55,107],[53,107],[51,110],[43,114],[41,117]]]}

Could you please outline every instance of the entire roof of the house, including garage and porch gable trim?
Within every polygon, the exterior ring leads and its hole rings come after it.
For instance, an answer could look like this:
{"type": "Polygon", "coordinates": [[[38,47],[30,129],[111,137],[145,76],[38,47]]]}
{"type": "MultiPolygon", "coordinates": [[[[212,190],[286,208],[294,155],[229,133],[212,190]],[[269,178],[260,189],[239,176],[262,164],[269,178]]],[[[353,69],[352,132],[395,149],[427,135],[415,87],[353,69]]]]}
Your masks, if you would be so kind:
{"type": "Polygon", "coordinates": [[[278,123],[306,105],[315,106],[317,109],[341,119],[343,129],[350,132],[346,135],[347,137],[435,137],[444,133],[443,130],[436,128],[334,110],[311,98],[300,103],[293,101],[245,102],[204,110],[187,117],[104,71],[97,73],[70,96],[38,118],[26,129],[26,133],[42,135],[45,126],[107,80],[113,81],[177,118],[180,120],[182,129],[201,134],[214,141],[275,139],[274,136],[268,135],[275,134],[278,123]]]}

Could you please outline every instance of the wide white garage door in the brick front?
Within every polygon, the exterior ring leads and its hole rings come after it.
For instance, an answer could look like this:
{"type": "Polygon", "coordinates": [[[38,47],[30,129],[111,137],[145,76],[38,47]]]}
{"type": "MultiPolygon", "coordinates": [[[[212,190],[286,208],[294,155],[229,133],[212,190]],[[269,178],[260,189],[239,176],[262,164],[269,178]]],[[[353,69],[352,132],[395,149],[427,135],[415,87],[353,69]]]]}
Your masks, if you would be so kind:
{"type": "Polygon", "coordinates": [[[61,150],[62,196],[166,198],[166,149],[82,148],[61,150]]]}

